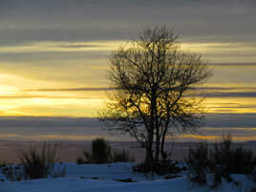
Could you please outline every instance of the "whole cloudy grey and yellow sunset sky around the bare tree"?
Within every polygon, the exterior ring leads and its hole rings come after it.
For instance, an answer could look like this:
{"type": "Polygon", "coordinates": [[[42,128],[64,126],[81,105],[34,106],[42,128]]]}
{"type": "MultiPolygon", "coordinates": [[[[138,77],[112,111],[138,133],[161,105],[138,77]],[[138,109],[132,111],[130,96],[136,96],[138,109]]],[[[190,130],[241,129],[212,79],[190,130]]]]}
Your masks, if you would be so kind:
{"type": "Polygon", "coordinates": [[[253,0],[1,0],[0,134],[10,136],[21,119],[28,127],[74,127],[77,118],[96,117],[110,53],[162,24],[212,68],[204,128],[254,128],[255,23],[253,0]]]}

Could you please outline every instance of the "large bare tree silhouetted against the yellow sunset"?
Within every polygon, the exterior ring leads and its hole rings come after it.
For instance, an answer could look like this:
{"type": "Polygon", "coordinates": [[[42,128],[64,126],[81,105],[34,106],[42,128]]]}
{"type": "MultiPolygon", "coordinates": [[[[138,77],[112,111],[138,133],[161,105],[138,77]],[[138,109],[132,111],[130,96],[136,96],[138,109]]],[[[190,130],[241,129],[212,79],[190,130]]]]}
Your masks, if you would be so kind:
{"type": "Polygon", "coordinates": [[[109,130],[137,139],[148,165],[160,154],[166,158],[168,134],[194,132],[203,117],[196,87],[211,71],[201,55],[182,52],[176,39],[165,26],[147,28],[110,55],[114,91],[99,119],[109,130]]]}

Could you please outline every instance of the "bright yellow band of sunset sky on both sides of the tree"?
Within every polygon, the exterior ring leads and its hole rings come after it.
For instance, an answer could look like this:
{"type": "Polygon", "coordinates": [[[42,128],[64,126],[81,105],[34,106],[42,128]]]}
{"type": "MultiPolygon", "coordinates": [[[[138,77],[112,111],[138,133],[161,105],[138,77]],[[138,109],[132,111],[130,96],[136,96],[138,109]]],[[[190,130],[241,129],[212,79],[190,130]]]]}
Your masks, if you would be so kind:
{"type": "MultiPolygon", "coordinates": [[[[106,97],[105,91],[83,88],[109,86],[108,55],[120,45],[127,44],[125,41],[45,41],[0,46],[0,53],[7,55],[0,56],[0,116],[96,117],[106,97]]],[[[246,44],[181,43],[182,49],[188,47],[191,52],[203,53],[206,59],[208,53],[255,52],[253,45],[246,44]]],[[[219,90],[211,92],[226,95],[255,92],[255,70],[255,66],[213,66],[214,75],[203,86],[217,87],[219,90]]],[[[256,113],[253,103],[256,103],[255,96],[246,94],[208,96],[203,106],[207,113],[256,113]]]]}

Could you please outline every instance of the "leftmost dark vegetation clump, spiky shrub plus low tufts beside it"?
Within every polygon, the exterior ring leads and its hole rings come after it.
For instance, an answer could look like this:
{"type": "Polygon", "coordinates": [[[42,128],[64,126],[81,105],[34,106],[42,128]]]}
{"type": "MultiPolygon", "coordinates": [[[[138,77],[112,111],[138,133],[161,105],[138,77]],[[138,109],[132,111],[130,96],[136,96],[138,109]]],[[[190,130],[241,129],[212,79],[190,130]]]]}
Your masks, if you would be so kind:
{"type": "Polygon", "coordinates": [[[54,169],[58,162],[56,157],[57,144],[44,143],[41,150],[31,147],[29,151],[21,151],[19,154],[20,164],[5,164],[2,173],[10,181],[21,181],[27,179],[41,179],[51,176],[64,177],[66,167],[54,169]]]}

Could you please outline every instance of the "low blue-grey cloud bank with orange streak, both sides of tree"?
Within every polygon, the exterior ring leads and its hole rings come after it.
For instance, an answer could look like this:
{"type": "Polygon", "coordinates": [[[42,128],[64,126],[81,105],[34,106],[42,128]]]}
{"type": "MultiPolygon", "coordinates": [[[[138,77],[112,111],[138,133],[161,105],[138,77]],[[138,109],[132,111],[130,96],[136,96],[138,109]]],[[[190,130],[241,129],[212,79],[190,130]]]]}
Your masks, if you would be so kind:
{"type": "MultiPolygon", "coordinates": [[[[178,140],[220,139],[230,133],[236,141],[255,139],[256,114],[207,114],[198,135],[178,135],[178,140]]],[[[110,137],[93,117],[0,117],[0,139],[95,139],[110,137]]],[[[111,138],[113,139],[113,138],[111,138]]],[[[123,140],[116,136],[116,140],[123,140]]]]}

